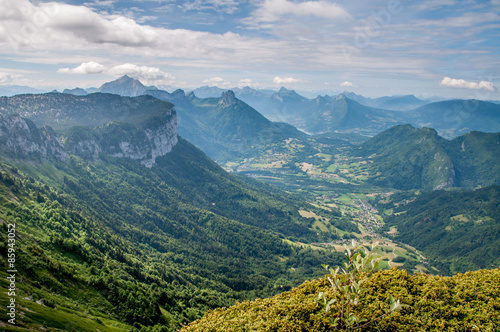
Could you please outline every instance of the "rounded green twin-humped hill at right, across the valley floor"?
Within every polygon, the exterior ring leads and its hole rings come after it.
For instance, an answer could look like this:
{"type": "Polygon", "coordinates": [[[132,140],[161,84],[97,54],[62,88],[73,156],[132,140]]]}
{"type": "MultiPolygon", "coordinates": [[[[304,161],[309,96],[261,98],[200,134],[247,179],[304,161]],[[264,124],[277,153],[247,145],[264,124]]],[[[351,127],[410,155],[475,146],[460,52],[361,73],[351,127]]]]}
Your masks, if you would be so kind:
{"type": "Polygon", "coordinates": [[[368,182],[425,191],[498,184],[499,134],[471,132],[451,141],[431,128],[399,125],[354,149],[370,166],[368,182]]]}

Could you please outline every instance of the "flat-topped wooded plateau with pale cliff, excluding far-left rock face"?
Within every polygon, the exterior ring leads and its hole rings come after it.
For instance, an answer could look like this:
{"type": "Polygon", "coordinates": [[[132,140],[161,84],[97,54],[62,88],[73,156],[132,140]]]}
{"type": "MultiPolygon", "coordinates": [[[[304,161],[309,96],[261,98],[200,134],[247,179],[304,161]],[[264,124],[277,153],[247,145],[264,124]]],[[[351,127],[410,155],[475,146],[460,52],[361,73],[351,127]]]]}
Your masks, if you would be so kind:
{"type": "Polygon", "coordinates": [[[65,148],[84,158],[98,158],[102,152],[151,167],[177,144],[175,108],[150,96],[24,95],[0,98],[0,105],[4,114],[53,127],[65,137],[65,148]]]}

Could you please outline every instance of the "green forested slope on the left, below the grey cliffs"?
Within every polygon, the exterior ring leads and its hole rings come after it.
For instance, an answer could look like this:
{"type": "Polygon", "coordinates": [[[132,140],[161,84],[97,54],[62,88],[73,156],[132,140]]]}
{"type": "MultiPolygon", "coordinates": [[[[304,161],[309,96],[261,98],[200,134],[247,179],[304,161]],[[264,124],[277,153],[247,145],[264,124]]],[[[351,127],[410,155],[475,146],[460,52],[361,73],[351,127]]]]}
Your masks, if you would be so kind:
{"type": "Polygon", "coordinates": [[[47,326],[64,326],[57,312],[84,307],[101,322],[174,330],[341,261],[284,242],[317,236],[297,212],[302,202],[238,180],[183,140],[151,169],[105,156],[4,163],[0,190],[1,254],[15,223],[21,294],[52,308],[47,326]]]}

